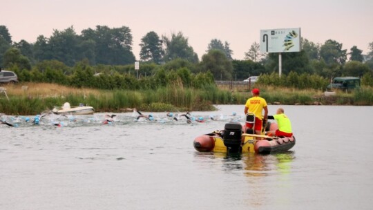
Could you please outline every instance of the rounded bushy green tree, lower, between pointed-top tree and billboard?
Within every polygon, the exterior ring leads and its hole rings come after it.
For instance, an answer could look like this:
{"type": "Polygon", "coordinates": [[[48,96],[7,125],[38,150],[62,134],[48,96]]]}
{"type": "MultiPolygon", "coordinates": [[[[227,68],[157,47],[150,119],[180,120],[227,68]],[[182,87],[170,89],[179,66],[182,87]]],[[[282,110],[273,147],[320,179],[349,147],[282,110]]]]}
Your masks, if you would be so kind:
{"type": "Polygon", "coordinates": [[[203,55],[200,70],[204,73],[211,72],[216,80],[232,79],[232,62],[220,50],[210,50],[203,55]]]}

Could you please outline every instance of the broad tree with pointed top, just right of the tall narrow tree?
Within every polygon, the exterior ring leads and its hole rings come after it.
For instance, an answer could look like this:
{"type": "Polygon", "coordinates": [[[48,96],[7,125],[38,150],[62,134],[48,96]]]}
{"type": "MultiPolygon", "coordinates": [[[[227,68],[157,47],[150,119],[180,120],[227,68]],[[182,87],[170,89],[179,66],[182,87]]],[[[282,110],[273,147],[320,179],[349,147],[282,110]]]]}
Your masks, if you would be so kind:
{"type": "Polygon", "coordinates": [[[178,32],[178,34],[173,33],[171,39],[165,36],[162,36],[162,39],[166,46],[164,61],[167,62],[181,58],[191,61],[193,64],[198,63],[197,53],[194,53],[193,48],[188,44],[188,39],[182,35],[182,32],[178,32]]]}

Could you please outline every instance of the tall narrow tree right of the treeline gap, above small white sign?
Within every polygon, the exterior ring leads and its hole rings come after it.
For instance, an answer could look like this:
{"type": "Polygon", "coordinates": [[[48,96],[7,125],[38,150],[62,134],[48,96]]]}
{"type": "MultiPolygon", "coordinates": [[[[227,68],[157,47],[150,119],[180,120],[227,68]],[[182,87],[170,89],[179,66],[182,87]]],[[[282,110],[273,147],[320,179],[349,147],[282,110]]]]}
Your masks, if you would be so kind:
{"type": "Polygon", "coordinates": [[[164,55],[162,43],[163,41],[155,32],[148,32],[141,39],[140,59],[142,59],[142,61],[152,61],[155,64],[160,64],[164,55]]]}

